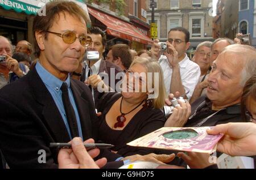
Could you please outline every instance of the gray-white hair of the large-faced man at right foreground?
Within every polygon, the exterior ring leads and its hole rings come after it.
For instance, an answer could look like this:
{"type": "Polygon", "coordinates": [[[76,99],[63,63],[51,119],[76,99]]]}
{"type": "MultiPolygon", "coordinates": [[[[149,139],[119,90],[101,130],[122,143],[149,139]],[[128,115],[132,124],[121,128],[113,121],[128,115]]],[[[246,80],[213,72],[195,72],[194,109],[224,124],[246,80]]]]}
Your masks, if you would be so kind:
{"type": "Polygon", "coordinates": [[[222,53],[234,53],[241,55],[243,60],[245,61],[245,66],[242,70],[242,77],[241,77],[241,85],[242,87],[245,86],[247,80],[251,78],[255,74],[256,70],[256,49],[253,46],[248,45],[241,45],[235,44],[227,46],[222,53]]]}

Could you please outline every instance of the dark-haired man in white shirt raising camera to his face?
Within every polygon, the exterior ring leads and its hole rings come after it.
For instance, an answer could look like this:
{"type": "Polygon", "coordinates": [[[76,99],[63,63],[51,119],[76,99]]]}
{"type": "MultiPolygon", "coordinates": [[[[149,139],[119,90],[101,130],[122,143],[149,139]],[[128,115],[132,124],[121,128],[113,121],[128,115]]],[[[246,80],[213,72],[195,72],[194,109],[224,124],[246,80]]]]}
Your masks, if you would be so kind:
{"type": "Polygon", "coordinates": [[[182,96],[191,98],[201,71],[199,65],[189,60],[186,51],[191,45],[189,32],[182,27],[173,28],[168,33],[167,52],[160,55],[159,40],[154,41],[151,53],[159,59],[163,70],[164,84],[167,94],[180,92],[182,96]]]}

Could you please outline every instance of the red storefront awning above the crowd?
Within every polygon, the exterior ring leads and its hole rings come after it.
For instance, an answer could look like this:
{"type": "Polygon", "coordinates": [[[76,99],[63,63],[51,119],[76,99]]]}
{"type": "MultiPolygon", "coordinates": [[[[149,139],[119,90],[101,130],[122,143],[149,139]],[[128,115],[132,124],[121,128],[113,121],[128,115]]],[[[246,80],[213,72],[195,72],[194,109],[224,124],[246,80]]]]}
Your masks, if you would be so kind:
{"type": "Polygon", "coordinates": [[[153,41],[149,37],[143,35],[133,25],[107,15],[104,12],[94,10],[93,8],[88,7],[88,11],[94,18],[106,25],[106,32],[109,35],[130,41],[141,42],[142,44],[153,44],[153,41]]]}

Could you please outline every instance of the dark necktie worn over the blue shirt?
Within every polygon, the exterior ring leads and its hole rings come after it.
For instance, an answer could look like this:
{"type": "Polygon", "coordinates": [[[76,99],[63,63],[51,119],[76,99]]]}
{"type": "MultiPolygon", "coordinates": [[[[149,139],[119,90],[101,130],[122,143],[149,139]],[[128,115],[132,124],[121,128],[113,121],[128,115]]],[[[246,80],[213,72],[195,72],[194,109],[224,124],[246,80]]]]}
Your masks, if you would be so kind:
{"type": "Polygon", "coordinates": [[[68,120],[69,129],[71,131],[71,136],[73,139],[75,137],[79,137],[79,131],[77,127],[76,114],[68,97],[68,84],[63,83],[60,89],[62,91],[62,101],[63,101],[66,117],[68,120]]]}

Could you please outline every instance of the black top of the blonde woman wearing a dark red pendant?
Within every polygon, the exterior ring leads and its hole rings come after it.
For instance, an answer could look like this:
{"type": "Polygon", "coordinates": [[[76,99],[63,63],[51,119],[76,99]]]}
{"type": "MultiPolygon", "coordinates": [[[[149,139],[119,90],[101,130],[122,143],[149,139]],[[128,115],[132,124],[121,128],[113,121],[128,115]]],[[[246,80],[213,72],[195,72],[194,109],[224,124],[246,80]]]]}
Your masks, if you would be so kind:
{"type": "Polygon", "coordinates": [[[106,122],[106,114],[121,96],[121,93],[109,93],[104,100],[99,102],[98,110],[102,112],[102,115],[98,139],[104,143],[115,145],[111,150],[117,151],[123,157],[158,153],[156,149],[130,147],[126,144],[164,126],[164,114],[160,109],[142,108],[123,130],[113,130],[109,127],[106,122]]]}

